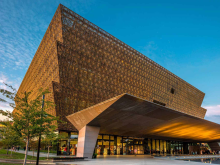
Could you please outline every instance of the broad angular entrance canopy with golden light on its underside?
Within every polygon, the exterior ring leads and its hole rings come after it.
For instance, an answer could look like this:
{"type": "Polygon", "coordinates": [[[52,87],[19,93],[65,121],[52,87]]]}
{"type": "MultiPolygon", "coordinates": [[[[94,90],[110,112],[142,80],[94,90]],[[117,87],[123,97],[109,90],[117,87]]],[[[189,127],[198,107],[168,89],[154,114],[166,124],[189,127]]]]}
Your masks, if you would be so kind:
{"type": "Polygon", "coordinates": [[[129,94],[122,94],[67,116],[78,129],[100,127],[100,134],[212,142],[220,125],[129,94]]]}

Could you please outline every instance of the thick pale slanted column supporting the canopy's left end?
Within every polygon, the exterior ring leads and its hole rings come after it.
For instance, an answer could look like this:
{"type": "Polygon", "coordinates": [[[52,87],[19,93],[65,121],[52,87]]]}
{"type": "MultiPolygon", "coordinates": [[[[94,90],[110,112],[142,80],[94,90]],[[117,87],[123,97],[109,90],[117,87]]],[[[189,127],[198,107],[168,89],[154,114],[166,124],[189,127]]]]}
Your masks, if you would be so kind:
{"type": "Polygon", "coordinates": [[[99,127],[85,126],[79,130],[77,157],[92,158],[92,154],[99,135],[99,127]]]}

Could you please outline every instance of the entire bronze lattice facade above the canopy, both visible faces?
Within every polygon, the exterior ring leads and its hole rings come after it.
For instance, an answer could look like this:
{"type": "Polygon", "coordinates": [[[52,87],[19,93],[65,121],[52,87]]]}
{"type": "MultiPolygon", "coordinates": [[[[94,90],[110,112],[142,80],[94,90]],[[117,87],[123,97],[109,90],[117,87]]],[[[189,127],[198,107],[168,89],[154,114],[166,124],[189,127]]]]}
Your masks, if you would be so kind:
{"type": "MultiPolygon", "coordinates": [[[[204,118],[204,93],[98,26],[59,5],[18,93],[49,88],[49,113],[66,116],[128,93],[204,118]]],[[[76,130],[67,121],[59,130],[76,130]]]]}

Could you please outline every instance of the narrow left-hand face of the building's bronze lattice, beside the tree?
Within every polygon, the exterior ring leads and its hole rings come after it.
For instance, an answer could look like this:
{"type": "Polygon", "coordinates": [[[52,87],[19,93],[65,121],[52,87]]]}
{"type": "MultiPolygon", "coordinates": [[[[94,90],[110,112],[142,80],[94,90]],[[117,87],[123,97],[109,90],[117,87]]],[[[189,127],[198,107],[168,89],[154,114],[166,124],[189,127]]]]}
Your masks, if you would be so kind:
{"type": "MultiPolygon", "coordinates": [[[[50,94],[46,96],[47,100],[54,102],[52,81],[60,82],[57,41],[62,40],[62,22],[61,6],[58,7],[53,19],[34,55],[34,58],[25,74],[25,77],[19,87],[18,95],[25,91],[32,91],[30,99],[36,98],[40,88],[49,89],[50,94]]],[[[48,112],[56,116],[55,109],[48,112]]]]}

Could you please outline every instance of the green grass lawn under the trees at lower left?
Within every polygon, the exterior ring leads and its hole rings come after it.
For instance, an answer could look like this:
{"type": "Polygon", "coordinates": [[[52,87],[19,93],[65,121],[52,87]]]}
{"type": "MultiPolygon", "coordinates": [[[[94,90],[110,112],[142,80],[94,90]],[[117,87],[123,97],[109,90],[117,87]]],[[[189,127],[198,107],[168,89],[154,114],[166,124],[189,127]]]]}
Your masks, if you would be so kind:
{"type": "MultiPolygon", "coordinates": [[[[31,152],[31,151],[29,151],[29,152],[31,152]]],[[[7,150],[0,149],[0,158],[1,159],[24,159],[24,154],[12,152],[12,156],[11,156],[11,151],[9,151],[9,154],[7,155],[7,150]]],[[[28,155],[27,159],[28,160],[36,160],[36,157],[32,157],[32,156],[28,155]]],[[[47,159],[46,157],[39,158],[39,160],[46,160],[46,159],[47,159]]],[[[7,165],[8,165],[8,163],[7,163],[7,165]]]]}

